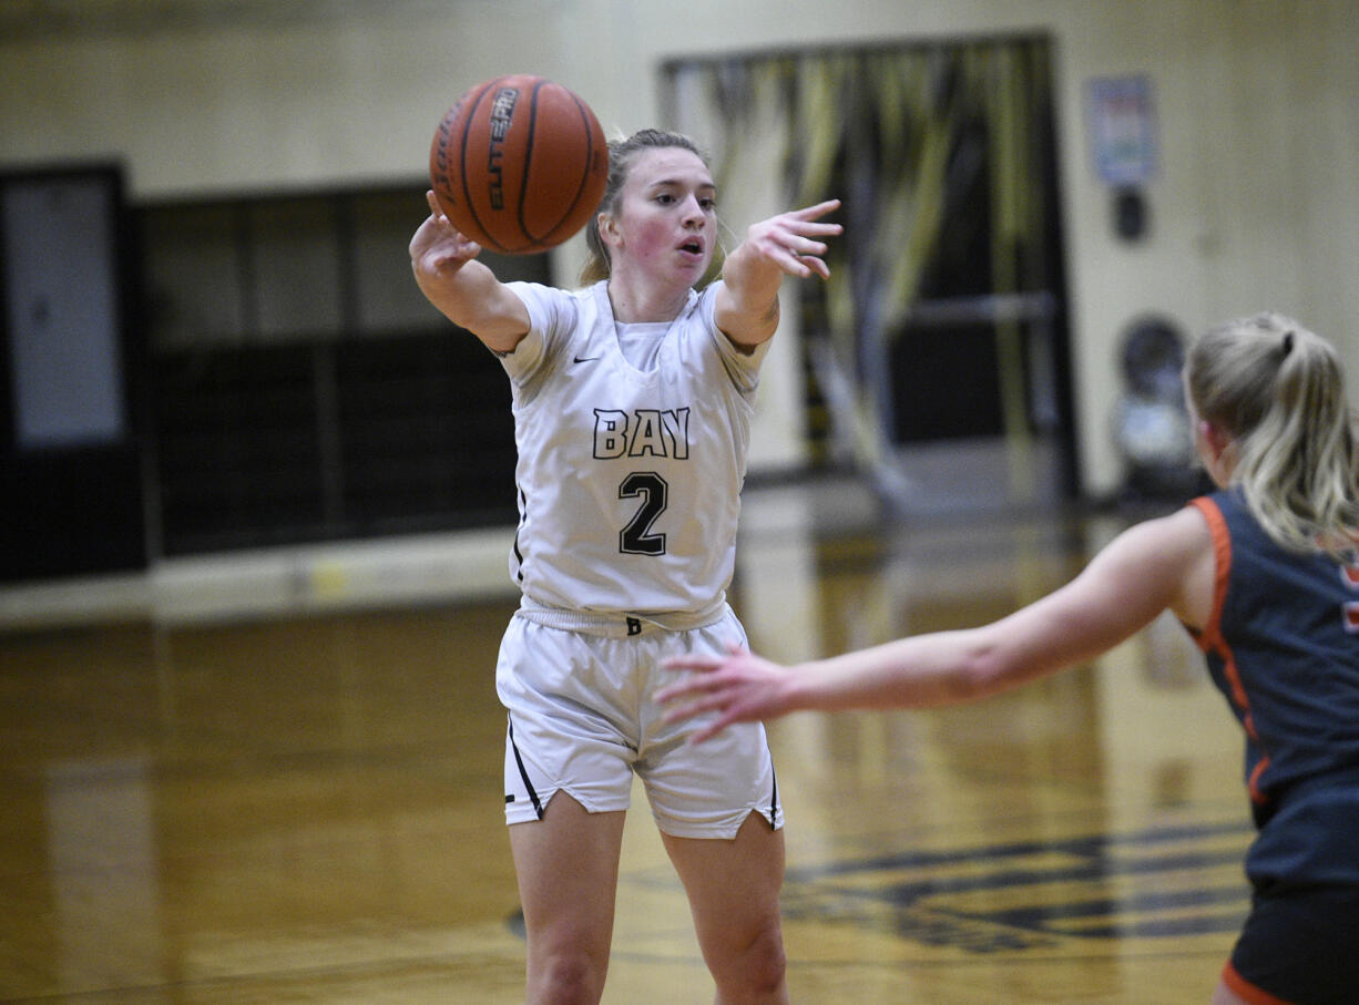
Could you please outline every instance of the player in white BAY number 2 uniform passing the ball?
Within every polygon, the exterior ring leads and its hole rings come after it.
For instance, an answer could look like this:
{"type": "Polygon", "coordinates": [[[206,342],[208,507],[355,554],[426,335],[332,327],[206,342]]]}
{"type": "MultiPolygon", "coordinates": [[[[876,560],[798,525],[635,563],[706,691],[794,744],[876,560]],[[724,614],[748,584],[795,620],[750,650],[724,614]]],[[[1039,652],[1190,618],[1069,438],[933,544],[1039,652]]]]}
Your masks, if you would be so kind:
{"type": "Polygon", "coordinates": [[[686,137],[612,144],[594,285],[501,284],[431,197],[416,280],[500,354],[514,392],[523,591],[496,672],[529,1001],[598,1001],[632,774],[685,884],[719,1001],[787,1001],[783,823],[764,731],[689,747],[651,694],[665,656],[722,653],[752,401],[784,274],[828,274],[819,217],[754,224],[701,293],[715,187],[686,137]]]}

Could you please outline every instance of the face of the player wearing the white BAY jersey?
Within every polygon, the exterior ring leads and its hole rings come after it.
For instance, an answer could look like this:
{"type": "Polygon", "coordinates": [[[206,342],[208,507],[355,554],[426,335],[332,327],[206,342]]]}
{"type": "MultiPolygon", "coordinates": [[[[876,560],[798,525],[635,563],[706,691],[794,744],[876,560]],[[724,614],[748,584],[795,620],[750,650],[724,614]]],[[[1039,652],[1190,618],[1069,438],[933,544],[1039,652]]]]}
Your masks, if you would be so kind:
{"type": "Polygon", "coordinates": [[[693,285],[712,261],[716,200],[712,175],[697,155],[675,147],[641,151],[607,228],[614,263],[625,255],[658,278],[693,285]]]}

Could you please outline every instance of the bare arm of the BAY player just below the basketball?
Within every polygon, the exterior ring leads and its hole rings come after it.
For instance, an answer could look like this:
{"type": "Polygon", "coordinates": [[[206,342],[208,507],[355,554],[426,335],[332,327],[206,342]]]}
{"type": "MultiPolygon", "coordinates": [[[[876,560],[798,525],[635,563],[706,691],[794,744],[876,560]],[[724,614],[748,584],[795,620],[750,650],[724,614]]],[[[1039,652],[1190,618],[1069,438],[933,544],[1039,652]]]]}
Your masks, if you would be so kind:
{"type": "Polygon", "coordinates": [[[410,239],[410,268],[420,292],[454,325],[488,349],[514,352],[529,334],[529,311],[507,285],[476,261],[481,246],[458,232],[427,193],[429,217],[410,239]]]}

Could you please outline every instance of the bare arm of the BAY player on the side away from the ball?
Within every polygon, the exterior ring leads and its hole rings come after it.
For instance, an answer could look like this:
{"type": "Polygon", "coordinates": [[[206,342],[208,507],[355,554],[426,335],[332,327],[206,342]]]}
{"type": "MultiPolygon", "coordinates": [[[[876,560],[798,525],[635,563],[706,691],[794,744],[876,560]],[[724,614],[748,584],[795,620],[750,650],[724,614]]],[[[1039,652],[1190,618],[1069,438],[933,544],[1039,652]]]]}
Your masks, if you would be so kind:
{"type": "Polygon", "coordinates": [[[784,276],[826,278],[822,238],[843,227],[821,217],[840,208],[840,200],[792,209],[752,224],[746,239],[727,255],[713,304],[718,327],[739,346],[754,348],[779,327],[779,285],[784,276]]]}

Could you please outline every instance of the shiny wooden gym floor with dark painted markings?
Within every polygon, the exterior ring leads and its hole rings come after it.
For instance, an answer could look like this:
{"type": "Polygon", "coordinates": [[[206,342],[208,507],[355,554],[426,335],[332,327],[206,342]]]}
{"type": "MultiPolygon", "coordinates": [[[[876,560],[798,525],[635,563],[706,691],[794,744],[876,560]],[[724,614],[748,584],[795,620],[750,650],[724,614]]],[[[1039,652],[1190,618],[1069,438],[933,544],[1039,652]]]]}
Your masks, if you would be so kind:
{"type": "MultiPolygon", "coordinates": [[[[826,505],[747,498],[733,600],[771,656],[998,617],[1123,526],[826,505]]],[[[492,682],[514,600],[457,585],[5,627],[0,1001],[520,1000],[492,682]]],[[[795,1001],[1207,1002],[1250,830],[1239,736],[1173,623],[998,699],[771,742],[795,1001]]],[[[605,1001],[711,995],[635,792],[605,1001]]]]}

